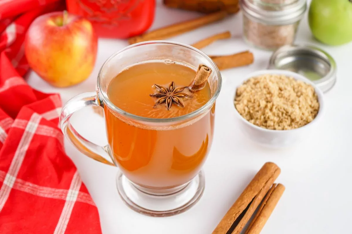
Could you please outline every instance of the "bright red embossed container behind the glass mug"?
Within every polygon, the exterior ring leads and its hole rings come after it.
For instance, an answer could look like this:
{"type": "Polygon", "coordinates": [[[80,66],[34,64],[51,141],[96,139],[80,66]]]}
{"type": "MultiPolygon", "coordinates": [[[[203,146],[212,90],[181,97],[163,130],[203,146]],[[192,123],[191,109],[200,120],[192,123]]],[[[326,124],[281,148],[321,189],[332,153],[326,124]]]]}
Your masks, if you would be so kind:
{"type": "Polygon", "coordinates": [[[92,22],[104,38],[128,38],[145,32],[152,24],[155,0],[66,0],[68,12],[92,22]]]}

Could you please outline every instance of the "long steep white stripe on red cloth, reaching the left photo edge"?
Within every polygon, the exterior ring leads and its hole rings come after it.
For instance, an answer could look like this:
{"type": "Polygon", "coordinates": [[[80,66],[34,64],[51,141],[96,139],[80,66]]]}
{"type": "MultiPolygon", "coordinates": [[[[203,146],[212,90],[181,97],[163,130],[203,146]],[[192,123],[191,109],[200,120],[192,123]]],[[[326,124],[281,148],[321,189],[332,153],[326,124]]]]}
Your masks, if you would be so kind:
{"type": "Polygon", "coordinates": [[[17,174],[21,168],[23,159],[26,155],[27,149],[32,141],[33,135],[37,130],[41,117],[37,113],[33,113],[27,123],[22,138],[17,146],[16,152],[11,161],[10,168],[5,176],[4,183],[0,189],[0,212],[4,207],[8,195],[10,195],[11,188],[13,187],[17,174]]]}

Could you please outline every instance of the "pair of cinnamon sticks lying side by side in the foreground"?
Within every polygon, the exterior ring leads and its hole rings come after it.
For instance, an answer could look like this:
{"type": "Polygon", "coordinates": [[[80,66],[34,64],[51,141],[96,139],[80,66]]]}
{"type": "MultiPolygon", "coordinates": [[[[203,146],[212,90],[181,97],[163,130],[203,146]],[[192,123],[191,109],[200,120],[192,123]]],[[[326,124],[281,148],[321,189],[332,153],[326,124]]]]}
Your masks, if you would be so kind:
{"type": "Polygon", "coordinates": [[[282,184],[274,183],[279,174],[275,163],[265,163],[212,234],[240,234],[258,207],[245,234],[259,234],[285,190],[282,184]]]}

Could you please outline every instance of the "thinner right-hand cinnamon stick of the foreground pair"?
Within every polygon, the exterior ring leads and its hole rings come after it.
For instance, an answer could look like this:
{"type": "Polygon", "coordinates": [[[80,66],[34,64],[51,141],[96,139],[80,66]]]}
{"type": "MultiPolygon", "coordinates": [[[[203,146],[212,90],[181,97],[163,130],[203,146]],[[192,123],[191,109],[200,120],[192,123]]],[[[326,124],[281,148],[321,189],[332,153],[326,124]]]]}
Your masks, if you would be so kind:
{"type": "Polygon", "coordinates": [[[256,216],[248,226],[245,234],[259,234],[263,229],[266,221],[268,221],[269,216],[272,211],[275,209],[277,202],[280,200],[283,192],[285,191],[285,186],[282,184],[274,185],[269,190],[268,194],[266,194],[262,205],[260,205],[256,216]]]}

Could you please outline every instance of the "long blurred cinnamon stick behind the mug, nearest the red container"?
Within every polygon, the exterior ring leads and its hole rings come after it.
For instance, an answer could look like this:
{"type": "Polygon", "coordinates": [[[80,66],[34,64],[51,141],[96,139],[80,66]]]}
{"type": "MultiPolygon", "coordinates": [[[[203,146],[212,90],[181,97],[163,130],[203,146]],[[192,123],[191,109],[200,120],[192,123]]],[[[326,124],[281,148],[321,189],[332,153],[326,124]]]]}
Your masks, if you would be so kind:
{"type": "Polygon", "coordinates": [[[222,20],[227,15],[228,13],[226,11],[215,12],[212,14],[202,16],[197,19],[184,21],[181,23],[159,28],[151,32],[147,32],[139,36],[131,37],[130,39],[128,39],[128,42],[130,44],[134,44],[142,41],[163,40],[166,38],[170,38],[172,36],[176,36],[176,35],[191,31],[195,28],[205,26],[215,21],[222,20]]]}

